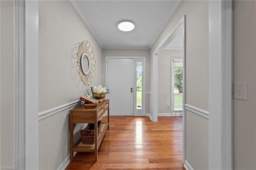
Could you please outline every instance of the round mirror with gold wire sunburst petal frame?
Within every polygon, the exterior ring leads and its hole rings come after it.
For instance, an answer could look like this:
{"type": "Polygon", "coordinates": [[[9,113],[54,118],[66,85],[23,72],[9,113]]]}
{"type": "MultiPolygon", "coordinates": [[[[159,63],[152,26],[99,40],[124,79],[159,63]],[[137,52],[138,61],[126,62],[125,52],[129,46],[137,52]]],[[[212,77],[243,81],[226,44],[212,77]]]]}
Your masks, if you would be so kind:
{"type": "Polygon", "coordinates": [[[77,73],[80,76],[81,81],[86,86],[92,85],[92,81],[95,77],[96,61],[94,59],[93,48],[90,42],[86,40],[79,44],[76,57],[76,65],[78,67],[77,73]]]}

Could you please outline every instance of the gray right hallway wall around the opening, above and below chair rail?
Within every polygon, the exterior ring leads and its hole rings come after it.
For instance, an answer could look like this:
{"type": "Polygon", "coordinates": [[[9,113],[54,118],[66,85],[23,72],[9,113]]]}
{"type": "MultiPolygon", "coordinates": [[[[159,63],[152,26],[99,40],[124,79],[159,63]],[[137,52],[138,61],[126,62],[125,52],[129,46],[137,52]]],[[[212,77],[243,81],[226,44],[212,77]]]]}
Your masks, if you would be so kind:
{"type": "MultiPolygon", "coordinates": [[[[208,111],[208,1],[182,1],[151,47],[150,56],[184,15],[186,103],[208,111]]],[[[208,119],[187,112],[186,120],[186,127],[190,129],[186,132],[186,160],[194,169],[208,169],[208,119]]]]}

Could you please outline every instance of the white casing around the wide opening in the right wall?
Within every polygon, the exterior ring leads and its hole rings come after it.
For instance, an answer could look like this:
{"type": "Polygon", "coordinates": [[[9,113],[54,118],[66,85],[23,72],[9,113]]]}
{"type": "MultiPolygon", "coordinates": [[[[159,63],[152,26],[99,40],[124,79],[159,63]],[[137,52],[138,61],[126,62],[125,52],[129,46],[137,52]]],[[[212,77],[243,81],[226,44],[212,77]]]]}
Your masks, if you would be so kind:
{"type": "MultiPolygon", "coordinates": [[[[175,43],[178,40],[181,40],[181,50],[182,50],[182,162],[185,162],[186,159],[186,110],[184,105],[186,104],[186,16],[183,16],[182,19],[176,24],[176,26],[173,28],[173,30],[168,34],[168,36],[164,39],[162,43],[156,48],[156,50],[153,53],[152,58],[152,65],[153,65],[153,95],[150,97],[150,103],[151,101],[154,101],[152,103],[152,107],[150,107],[150,115],[152,116],[152,121],[158,121],[158,103],[159,102],[159,96],[158,95],[158,89],[161,83],[159,83],[159,54],[164,51],[164,49],[168,49],[168,47],[172,46],[173,49],[175,49],[175,43]],[[181,39],[178,38],[179,35],[181,36],[181,39]]],[[[170,56],[169,56],[170,57],[170,56]]],[[[175,57],[175,56],[172,56],[175,57]]],[[[169,60],[170,62],[170,60],[169,60]]],[[[171,88],[170,88],[171,89],[171,88]]],[[[175,88],[174,88],[175,89],[175,88]]],[[[179,92],[180,93],[180,92],[179,92]]],[[[175,93],[173,93],[175,94],[175,93]]],[[[171,98],[171,97],[170,97],[171,98]]],[[[175,99],[173,99],[175,100],[175,99]]],[[[174,107],[173,107],[174,108],[174,107]]]]}

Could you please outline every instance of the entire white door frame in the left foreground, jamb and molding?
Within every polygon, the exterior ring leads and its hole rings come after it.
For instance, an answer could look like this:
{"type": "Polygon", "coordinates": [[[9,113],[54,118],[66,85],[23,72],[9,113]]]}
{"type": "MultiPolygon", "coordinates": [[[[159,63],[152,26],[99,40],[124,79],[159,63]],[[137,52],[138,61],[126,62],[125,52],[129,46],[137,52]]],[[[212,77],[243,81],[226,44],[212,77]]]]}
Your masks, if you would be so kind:
{"type": "Polygon", "coordinates": [[[38,169],[38,0],[14,1],[14,34],[14,166],[38,169]]]}

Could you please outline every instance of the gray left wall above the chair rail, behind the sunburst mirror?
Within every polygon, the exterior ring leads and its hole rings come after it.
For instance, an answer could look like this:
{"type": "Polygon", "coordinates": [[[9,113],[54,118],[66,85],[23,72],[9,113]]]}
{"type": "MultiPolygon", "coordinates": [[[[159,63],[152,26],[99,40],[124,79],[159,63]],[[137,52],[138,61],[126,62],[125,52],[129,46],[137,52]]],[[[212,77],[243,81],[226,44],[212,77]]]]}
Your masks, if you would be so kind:
{"type": "Polygon", "coordinates": [[[77,100],[79,95],[90,91],[76,77],[77,67],[74,67],[75,47],[83,40],[88,40],[94,48],[93,85],[98,85],[102,81],[102,48],[72,4],[39,1],[39,111],[77,100]]]}

